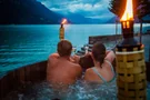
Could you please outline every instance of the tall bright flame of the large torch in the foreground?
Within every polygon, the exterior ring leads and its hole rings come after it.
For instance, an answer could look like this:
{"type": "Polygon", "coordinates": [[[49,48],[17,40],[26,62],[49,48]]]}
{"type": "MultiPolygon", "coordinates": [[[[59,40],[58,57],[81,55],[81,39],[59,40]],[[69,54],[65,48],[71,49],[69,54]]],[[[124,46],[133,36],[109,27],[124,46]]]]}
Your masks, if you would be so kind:
{"type": "Polygon", "coordinates": [[[133,2],[127,0],[126,11],[121,18],[121,21],[133,20],[133,2]]]}

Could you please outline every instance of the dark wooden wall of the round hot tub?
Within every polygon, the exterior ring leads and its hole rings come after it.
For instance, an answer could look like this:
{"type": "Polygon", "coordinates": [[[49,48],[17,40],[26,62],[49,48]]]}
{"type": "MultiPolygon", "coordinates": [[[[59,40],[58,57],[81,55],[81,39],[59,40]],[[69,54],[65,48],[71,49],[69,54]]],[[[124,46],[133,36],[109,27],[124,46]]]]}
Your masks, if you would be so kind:
{"type": "MultiPolygon", "coordinates": [[[[146,62],[146,66],[147,81],[150,81],[150,62],[146,62]]],[[[44,81],[46,69],[47,61],[41,61],[8,72],[8,74],[0,79],[0,100],[3,100],[9,92],[17,90],[19,87],[28,82],[36,83],[44,81]]]]}

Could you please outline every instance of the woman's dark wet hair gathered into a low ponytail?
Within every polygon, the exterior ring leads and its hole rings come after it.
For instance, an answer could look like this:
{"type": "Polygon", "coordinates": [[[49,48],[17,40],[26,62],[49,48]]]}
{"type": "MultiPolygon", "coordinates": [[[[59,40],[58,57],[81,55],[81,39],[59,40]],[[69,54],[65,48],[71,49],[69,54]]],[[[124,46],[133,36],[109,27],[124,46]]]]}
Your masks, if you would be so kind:
{"type": "Polygon", "coordinates": [[[106,47],[101,42],[96,42],[92,47],[92,54],[96,61],[100,62],[100,68],[101,64],[103,63],[103,60],[106,58],[106,47]]]}

